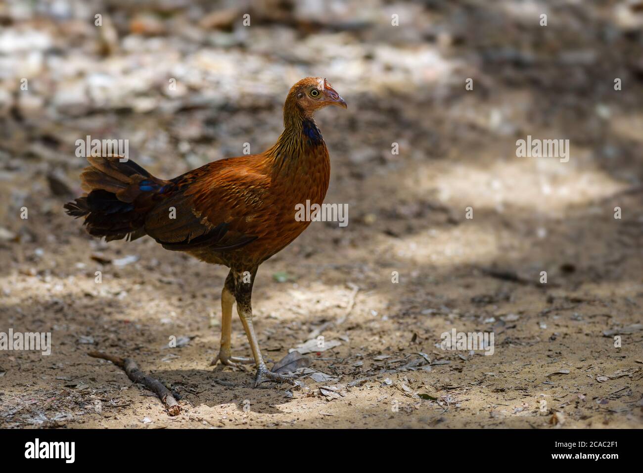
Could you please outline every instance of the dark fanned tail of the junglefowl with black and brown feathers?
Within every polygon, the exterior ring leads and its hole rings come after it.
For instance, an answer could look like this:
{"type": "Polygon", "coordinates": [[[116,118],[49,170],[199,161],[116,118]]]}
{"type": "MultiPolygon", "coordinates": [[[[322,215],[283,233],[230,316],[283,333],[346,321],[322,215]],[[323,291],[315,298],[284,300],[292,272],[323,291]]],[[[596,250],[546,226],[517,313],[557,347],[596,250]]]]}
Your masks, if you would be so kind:
{"type": "Polygon", "coordinates": [[[80,178],[86,196],[65,204],[68,215],[84,217],[87,232],[107,241],[145,235],[145,216],[170,182],[118,156],[91,156],[80,178]]]}

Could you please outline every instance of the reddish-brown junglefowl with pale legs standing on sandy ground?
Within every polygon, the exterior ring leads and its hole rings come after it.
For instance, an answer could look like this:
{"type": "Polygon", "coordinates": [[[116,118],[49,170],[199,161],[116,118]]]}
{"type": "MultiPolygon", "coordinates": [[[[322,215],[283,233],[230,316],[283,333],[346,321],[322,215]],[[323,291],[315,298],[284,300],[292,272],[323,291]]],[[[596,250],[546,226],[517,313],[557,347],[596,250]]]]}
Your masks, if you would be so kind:
{"type": "Polygon", "coordinates": [[[257,366],[255,387],[267,380],[289,381],[264,363],[253,328],[251,293],[259,265],[310,224],[295,219],[295,206],[307,200],[323,203],[331,168],[313,114],[329,105],[346,108],[326,79],[302,79],[285,100],[284,131],[273,147],[208,163],[170,180],[118,156],[91,156],[80,176],[88,194],[65,205],[69,215],[85,218],[92,236],[111,241],[148,235],[167,250],[228,266],[221,292],[221,346],[213,364],[252,362],[231,355],[232,307],[237,302],[257,366]]]}

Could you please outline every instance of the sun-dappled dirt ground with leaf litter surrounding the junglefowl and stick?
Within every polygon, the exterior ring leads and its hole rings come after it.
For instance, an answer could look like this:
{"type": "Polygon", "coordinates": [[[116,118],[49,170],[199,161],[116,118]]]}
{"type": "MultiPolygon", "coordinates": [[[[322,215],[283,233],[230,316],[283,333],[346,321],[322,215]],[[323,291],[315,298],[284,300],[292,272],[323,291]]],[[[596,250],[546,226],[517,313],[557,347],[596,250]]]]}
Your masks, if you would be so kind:
{"type": "MultiPolygon", "coordinates": [[[[260,3],[246,29],[228,4],[0,10],[0,332],[52,337],[50,356],[0,351],[0,427],[643,427],[643,8],[371,3],[260,3]],[[33,41],[12,49],[14,32],[33,41]],[[62,205],[80,193],[78,138],[127,138],[174,177],[271,145],[307,75],[349,104],[318,114],[326,202],[349,225],[312,223],[261,266],[264,357],[318,335],[326,349],[298,389],[254,389],[251,367],[210,366],[226,268],[91,239],[62,205]],[[527,135],[570,140],[570,160],[518,158],[527,135]],[[451,329],[493,333],[493,355],[440,348],[451,329]],[[92,350],[134,358],[183,413],[92,350]]],[[[236,313],[232,344],[251,356],[236,313]]]]}

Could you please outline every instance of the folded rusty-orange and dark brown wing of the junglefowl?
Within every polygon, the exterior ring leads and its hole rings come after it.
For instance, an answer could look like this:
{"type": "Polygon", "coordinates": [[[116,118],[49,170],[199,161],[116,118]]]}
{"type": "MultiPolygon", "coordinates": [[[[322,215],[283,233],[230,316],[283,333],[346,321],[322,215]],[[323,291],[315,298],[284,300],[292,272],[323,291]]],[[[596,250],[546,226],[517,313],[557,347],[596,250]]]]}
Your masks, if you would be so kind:
{"type": "Polygon", "coordinates": [[[252,222],[267,207],[269,178],[233,160],[172,180],[167,198],[147,214],[145,232],[168,250],[233,250],[257,239],[252,222]]]}

